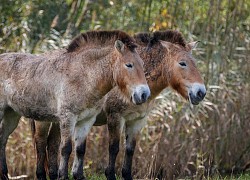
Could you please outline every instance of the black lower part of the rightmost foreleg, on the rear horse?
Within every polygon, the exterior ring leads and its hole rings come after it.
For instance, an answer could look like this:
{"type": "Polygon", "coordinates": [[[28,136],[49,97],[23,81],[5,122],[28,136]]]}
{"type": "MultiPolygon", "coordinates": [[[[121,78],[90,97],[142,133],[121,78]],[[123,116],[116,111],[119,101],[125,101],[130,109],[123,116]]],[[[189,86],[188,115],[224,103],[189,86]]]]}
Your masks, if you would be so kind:
{"type": "Polygon", "coordinates": [[[122,177],[125,180],[132,180],[132,162],[133,162],[133,155],[136,146],[136,140],[133,138],[129,140],[128,135],[126,137],[126,151],[125,151],[125,158],[122,167],[122,177]]]}

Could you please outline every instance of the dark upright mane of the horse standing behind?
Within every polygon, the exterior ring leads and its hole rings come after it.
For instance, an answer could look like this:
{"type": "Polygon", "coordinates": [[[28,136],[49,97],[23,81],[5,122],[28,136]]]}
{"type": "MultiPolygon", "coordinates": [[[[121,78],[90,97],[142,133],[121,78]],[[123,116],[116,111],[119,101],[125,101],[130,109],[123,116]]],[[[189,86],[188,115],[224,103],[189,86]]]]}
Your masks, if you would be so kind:
{"type": "Polygon", "coordinates": [[[154,33],[138,33],[134,35],[134,38],[138,42],[147,44],[149,48],[158,43],[159,40],[168,41],[186,47],[186,41],[182,34],[174,30],[156,31],[154,33]]]}

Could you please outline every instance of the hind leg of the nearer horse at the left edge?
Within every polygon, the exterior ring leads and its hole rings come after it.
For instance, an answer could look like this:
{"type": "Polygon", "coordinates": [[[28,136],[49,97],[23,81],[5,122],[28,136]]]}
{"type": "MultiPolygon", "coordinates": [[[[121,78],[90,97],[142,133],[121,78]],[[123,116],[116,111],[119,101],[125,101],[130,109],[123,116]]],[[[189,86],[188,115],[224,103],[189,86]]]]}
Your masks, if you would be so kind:
{"type": "Polygon", "coordinates": [[[9,135],[16,129],[20,116],[11,108],[0,111],[0,179],[8,179],[8,168],[6,163],[6,144],[9,135]]]}

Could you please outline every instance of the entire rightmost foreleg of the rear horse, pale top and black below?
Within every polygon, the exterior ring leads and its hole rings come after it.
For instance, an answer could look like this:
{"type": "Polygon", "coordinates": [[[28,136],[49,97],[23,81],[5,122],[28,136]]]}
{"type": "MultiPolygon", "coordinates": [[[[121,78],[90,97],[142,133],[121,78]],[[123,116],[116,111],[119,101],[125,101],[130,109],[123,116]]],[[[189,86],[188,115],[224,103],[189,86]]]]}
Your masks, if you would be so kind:
{"type": "Polygon", "coordinates": [[[146,120],[141,119],[135,122],[129,122],[126,124],[126,150],[125,157],[122,167],[122,177],[125,180],[132,180],[132,163],[133,163],[133,155],[136,146],[136,136],[139,134],[141,128],[145,125],[146,120]]]}

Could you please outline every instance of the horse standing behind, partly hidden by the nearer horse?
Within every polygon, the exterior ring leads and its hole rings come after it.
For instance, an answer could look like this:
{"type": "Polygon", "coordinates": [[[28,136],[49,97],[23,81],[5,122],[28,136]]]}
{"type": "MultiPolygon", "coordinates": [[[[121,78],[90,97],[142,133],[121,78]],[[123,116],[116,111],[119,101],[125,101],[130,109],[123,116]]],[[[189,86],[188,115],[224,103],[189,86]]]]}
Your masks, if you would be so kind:
{"type": "MultiPolygon", "coordinates": [[[[203,79],[192,56],[192,50],[197,46],[197,41],[187,43],[182,34],[174,30],[138,33],[134,38],[139,45],[137,51],[144,61],[145,76],[151,96],[146,103],[138,106],[123,101],[120,90],[115,87],[102,99],[102,111],[97,115],[94,125],[108,125],[109,162],[105,175],[110,180],[116,179],[115,161],[124,126],[126,150],[122,176],[125,180],[132,179],[131,169],[136,137],[146,124],[148,112],[153,108],[155,98],[161,91],[170,87],[193,105],[199,104],[206,95],[203,79]]],[[[50,173],[53,169],[51,167],[56,167],[58,146],[55,142],[58,141],[56,138],[60,138],[56,135],[60,131],[59,127],[56,123],[45,125],[35,121],[31,121],[31,126],[35,144],[44,147],[47,145],[50,173]]],[[[83,152],[85,152],[85,146],[84,143],[83,152]]],[[[84,153],[82,158],[83,156],[84,153]]],[[[43,165],[44,161],[37,162],[38,169],[43,165]]]]}

